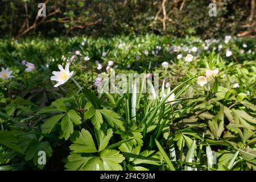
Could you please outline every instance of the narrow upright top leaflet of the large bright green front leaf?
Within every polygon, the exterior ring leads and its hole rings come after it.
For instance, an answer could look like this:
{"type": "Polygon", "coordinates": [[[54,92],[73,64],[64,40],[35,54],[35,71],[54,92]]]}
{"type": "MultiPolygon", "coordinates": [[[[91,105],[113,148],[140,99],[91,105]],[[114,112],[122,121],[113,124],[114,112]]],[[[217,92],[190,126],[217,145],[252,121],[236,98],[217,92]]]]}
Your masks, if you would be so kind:
{"type": "Polygon", "coordinates": [[[112,129],[106,131],[106,135],[102,130],[96,131],[96,138],[98,142],[98,151],[102,151],[108,146],[110,138],[113,136],[112,129]]]}

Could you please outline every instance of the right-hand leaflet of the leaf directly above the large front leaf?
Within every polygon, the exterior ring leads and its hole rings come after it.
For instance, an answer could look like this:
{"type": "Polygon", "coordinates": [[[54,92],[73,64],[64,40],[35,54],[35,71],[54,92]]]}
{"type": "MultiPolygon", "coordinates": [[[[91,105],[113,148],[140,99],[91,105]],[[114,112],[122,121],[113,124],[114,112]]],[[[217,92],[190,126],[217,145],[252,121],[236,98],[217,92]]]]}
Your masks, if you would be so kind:
{"type": "Polygon", "coordinates": [[[108,121],[109,125],[112,127],[116,127],[122,131],[125,131],[125,127],[123,126],[123,122],[119,120],[120,116],[112,110],[101,109],[101,114],[104,116],[106,121],[108,121]]]}

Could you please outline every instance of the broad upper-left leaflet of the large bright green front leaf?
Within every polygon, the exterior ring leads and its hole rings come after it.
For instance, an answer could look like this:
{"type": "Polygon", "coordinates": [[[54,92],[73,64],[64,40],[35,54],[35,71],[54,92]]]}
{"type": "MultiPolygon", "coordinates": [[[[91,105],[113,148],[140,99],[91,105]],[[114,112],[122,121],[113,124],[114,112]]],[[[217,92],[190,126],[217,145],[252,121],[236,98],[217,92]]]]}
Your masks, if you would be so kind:
{"type": "Polygon", "coordinates": [[[69,146],[70,150],[77,153],[93,153],[97,152],[97,148],[93,142],[92,135],[89,131],[82,129],[81,132],[76,132],[72,136],[71,146],[69,146]]]}

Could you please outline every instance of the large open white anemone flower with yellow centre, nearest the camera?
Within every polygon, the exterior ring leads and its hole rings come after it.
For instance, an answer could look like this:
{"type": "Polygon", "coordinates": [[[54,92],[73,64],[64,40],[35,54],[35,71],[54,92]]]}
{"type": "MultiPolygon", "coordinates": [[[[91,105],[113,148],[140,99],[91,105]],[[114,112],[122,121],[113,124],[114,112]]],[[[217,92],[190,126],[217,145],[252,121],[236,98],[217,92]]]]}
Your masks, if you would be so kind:
{"type": "Polygon", "coordinates": [[[69,72],[69,64],[66,64],[65,69],[63,69],[63,67],[59,65],[59,69],[59,72],[52,72],[54,76],[51,76],[51,80],[57,81],[57,84],[54,85],[54,87],[65,84],[65,82],[67,82],[69,78],[71,78],[73,75],[73,71],[69,72]]]}

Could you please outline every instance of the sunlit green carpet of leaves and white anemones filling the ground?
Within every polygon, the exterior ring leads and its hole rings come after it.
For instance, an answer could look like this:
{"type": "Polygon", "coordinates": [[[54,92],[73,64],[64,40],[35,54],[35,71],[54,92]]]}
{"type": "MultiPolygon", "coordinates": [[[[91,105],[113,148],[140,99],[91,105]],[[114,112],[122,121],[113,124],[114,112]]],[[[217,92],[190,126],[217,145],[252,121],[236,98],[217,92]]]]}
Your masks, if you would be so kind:
{"type": "Polygon", "coordinates": [[[0,40],[0,170],[255,170],[255,43],[0,40]],[[98,92],[113,72],[144,77],[98,92]]]}

